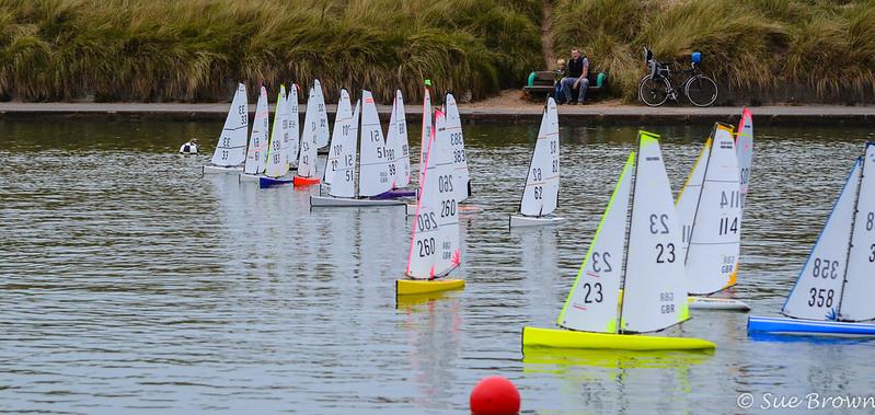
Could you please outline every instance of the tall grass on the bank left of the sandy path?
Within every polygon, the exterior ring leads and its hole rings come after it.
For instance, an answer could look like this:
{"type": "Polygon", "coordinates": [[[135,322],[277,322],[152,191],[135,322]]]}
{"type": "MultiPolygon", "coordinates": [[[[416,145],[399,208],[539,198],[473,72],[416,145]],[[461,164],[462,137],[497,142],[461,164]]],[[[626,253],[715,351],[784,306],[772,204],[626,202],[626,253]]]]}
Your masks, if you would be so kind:
{"type": "Polygon", "coordinates": [[[238,80],[473,99],[541,61],[540,0],[2,0],[0,97],[227,100],[238,80]]]}

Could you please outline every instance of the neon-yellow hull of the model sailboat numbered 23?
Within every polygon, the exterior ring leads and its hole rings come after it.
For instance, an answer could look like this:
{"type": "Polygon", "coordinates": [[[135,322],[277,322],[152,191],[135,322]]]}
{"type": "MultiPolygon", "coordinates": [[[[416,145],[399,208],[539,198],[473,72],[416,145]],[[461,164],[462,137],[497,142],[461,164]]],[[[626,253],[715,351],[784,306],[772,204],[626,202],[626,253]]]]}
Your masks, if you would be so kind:
{"type": "Polygon", "coordinates": [[[522,327],[522,347],[621,349],[621,350],[710,350],[717,346],[689,337],[657,337],[631,334],[574,332],[569,330],[522,327]]]}

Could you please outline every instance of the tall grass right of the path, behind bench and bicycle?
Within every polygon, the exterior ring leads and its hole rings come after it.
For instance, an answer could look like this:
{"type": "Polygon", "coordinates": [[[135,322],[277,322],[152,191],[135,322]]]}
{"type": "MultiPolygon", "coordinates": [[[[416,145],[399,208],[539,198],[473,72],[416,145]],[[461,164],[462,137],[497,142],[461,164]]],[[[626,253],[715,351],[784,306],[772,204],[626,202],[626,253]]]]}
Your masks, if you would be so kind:
{"type": "Polygon", "coordinates": [[[554,10],[557,56],[582,47],[629,100],[645,72],[644,45],[678,67],[702,51],[705,71],[742,92],[740,103],[744,92],[875,100],[875,1],[555,0],[554,10]]]}

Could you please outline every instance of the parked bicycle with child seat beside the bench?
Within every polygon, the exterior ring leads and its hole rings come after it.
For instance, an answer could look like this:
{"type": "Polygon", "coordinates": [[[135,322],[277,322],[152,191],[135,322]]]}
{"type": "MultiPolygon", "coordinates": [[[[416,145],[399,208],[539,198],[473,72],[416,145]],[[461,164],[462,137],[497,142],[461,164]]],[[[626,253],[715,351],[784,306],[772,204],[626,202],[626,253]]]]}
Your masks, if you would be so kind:
{"type": "MultiPolygon", "coordinates": [[[[701,62],[702,55],[694,53],[690,69],[683,69],[681,73],[689,77],[683,83],[683,94],[687,100],[695,106],[710,106],[717,101],[717,83],[713,79],[698,73],[696,64],[701,62]]],[[[642,78],[638,84],[638,99],[648,106],[659,106],[671,99],[678,101],[679,91],[671,83],[671,62],[657,61],[653,57],[653,51],[644,47],[644,60],[647,62],[649,72],[642,78]]]]}

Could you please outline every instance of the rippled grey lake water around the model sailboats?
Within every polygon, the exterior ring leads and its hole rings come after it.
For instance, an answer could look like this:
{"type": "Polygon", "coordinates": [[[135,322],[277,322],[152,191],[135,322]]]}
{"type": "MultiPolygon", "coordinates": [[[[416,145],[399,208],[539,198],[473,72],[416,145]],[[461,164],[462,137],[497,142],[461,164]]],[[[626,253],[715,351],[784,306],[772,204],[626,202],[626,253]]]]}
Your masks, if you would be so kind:
{"type": "MultiPolygon", "coordinates": [[[[464,291],[396,304],[403,209],[200,177],[221,123],[0,122],[0,411],[461,414],[483,377],[527,414],[737,413],[740,393],[872,395],[875,342],[751,339],[747,314],[671,335],[711,355],[522,356],[552,327],[633,127],[563,128],[561,227],[508,231],[537,126],[467,125],[464,291]],[[179,146],[199,137],[202,154],[179,146]]],[[[411,125],[418,154],[418,125],[411,125]]],[[[653,127],[677,192],[709,127],[653,127]]],[[[775,315],[868,129],[757,127],[729,293],[775,315]]],[[[415,160],[414,160],[415,161],[415,160]]],[[[871,411],[871,410],[870,410],[871,411]]]]}

